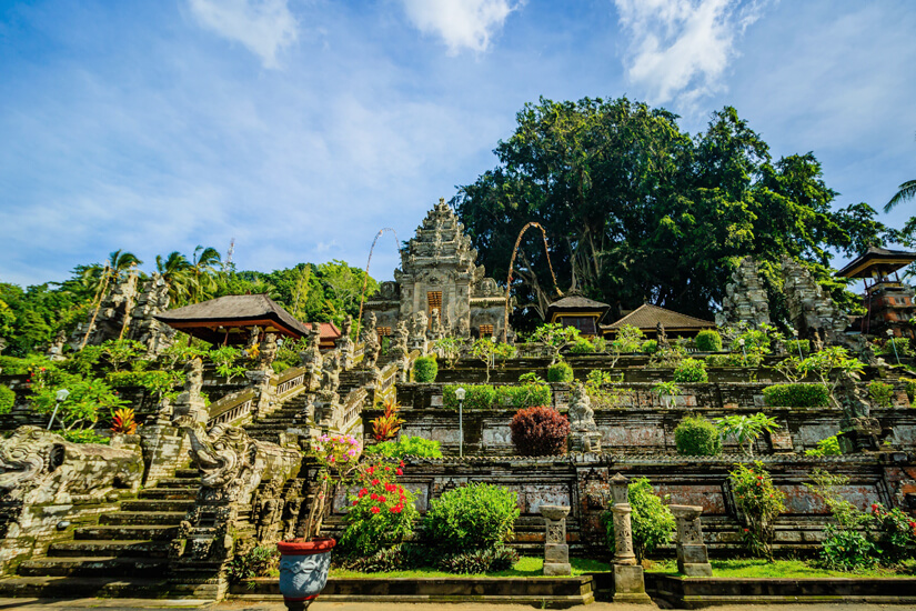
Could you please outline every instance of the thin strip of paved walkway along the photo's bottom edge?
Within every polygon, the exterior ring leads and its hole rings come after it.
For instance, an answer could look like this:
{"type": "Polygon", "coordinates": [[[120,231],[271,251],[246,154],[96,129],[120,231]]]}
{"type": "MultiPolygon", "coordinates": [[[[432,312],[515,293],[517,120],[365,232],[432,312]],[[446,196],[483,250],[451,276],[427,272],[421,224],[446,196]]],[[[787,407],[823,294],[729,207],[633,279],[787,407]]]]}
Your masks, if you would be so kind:
{"type": "MultiPolygon", "coordinates": [[[[139,611],[141,609],[200,609],[201,611],[285,611],[282,602],[250,601],[187,601],[151,599],[0,599],[0,611],[61,611],[103,609],[107,611],[139,611]]],[[[482,604],[482,603],[368,603],[368,602],[322,602],[313,603],[309,611],[532,611],[534,607],[523,604],[482,604]]],[[[587,607],[574,607],[583,611],[653,611],[656,607],[644,604],[613,604],[596,602],[587,607]]],[[[712,607],[711,611],[902,611],[909,609],[902,604],[858,604],[858,603],[816,603],[816,604],[735,604],[712,607]]]]}

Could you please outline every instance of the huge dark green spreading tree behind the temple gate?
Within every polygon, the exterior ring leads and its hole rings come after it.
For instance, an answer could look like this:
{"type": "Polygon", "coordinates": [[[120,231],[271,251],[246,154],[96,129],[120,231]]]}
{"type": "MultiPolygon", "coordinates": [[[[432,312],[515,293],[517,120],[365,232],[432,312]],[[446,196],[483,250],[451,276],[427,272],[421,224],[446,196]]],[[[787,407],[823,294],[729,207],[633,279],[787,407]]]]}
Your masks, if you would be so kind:
{"type": "MultiPolygon", "coordinates": [[[[618,309],[647,300],[708,318],[743,256],[763,262],[774,291],[788,254],[842,293],[828,280],[831,251],[886,233],[868,207],[834,212],[837,193],[814,156],[774,162],[729,107],[693,137],[675,114],[626,98],[542,98],[517,123],[494,151],[497,166],[453,200],[496,278],[507,272],[517,232],[537,221],[561,290],[618,309]]],[[[515,276],[521,302],[543,315],[556,293],[540,236],[522,241],[515,276]]]]}

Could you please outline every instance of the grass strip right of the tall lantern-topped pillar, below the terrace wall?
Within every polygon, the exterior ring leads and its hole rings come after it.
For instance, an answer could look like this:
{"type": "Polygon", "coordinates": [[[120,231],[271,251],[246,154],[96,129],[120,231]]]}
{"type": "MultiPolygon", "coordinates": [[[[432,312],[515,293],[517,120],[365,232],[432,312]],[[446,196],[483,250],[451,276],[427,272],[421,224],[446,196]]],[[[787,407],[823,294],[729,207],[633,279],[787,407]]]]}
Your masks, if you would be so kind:
{"type": "MultiPolygon", "coordinates": [[[[914,577],[916,572],[916,564],[913,562],[905,563],[902,571],[895,572],[889,569],[872,569],[867,571],[859,571],[855,573],[847,573],[843,571],[831,571],[827,569],[818,569],[802,560],[776,560],[775,562],[767,562],[758,559],[738,559],[738,560],[711,560],[713,565],[713,577],[722,578],[746,578],[746,579],[796,579],[796,578],[818,578],[818,577],[842,577],[842,578],[862,578],[862,577],[883,577],[883,578],[900,578],[914,577]]],[[[677,564],[674,560],[653,563],[647,572],[653,573],[668,573],[677,574],[677,564]]],[[[699,578],[702,579],[702,578],[699,578]]]]}

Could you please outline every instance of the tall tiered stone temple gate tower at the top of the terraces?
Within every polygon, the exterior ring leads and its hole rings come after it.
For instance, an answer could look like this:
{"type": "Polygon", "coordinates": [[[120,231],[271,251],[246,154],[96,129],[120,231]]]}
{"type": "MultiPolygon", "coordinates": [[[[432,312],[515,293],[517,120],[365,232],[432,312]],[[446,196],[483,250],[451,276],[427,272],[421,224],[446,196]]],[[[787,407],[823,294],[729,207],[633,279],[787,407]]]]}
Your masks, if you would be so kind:
{"type": "Polygon", "coordinates": [[[436,310],[445,334],[502,334],[505,296],[495,280],[485,278],[483,266],[475,264],[477,251],[463,231],[440,199],[401,251],[394,282],[382,282],[366,301],[365,311],[375,313],[381,334],[392,334],[400,321],[415,321],[417,313],[429,324],[436,310]]]}

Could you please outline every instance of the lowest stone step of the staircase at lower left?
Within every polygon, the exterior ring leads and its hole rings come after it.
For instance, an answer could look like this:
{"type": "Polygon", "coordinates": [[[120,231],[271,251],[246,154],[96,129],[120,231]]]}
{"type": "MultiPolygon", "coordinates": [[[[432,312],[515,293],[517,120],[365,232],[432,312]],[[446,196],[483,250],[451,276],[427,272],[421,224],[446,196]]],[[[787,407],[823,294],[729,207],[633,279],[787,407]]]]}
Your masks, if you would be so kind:
{"type": "Polygon", "coordinates": [[[117,577],[12,577],[0,579],[0,597],[10,598],[161,598],[168,591],[163,579],[117,577]]]}

